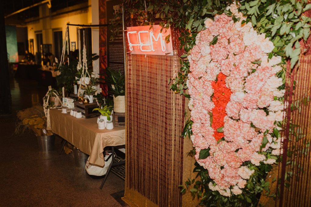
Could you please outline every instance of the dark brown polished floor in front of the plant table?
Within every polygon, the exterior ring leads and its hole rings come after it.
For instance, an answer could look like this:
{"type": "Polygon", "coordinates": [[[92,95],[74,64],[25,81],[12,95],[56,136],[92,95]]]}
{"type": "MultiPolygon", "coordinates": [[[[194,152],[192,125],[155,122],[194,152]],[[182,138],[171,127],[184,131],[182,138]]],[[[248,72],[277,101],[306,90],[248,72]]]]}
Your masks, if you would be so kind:
{"type": "MultiPolygon", "coordinates": [[[[12,79],[12,109],[42,104],[46,91],[34,80],[12,79]]],[[[102,179],[77,168],[72,155],[58,154],[61,138],[54,151],[39,152],[33,133],[13,134],[15,120],[14,113],[0,116],[0,206],[124,206],[117,201],[122,179],[110,173],[100,190],[102,179]]]]}

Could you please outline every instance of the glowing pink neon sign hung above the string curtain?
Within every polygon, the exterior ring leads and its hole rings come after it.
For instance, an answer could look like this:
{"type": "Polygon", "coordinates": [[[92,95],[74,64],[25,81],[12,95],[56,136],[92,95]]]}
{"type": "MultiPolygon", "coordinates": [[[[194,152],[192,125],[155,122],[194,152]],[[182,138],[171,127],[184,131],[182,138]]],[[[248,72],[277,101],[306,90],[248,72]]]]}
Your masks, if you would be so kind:
{"type": "Polygon", "coordinates": [[[165,37],[171,34],[171,30],[163,29],[160,25],[137,26],[127,28],[128,52],[143,55],[174,55],[172,38],[169,42],[165,37]]]}

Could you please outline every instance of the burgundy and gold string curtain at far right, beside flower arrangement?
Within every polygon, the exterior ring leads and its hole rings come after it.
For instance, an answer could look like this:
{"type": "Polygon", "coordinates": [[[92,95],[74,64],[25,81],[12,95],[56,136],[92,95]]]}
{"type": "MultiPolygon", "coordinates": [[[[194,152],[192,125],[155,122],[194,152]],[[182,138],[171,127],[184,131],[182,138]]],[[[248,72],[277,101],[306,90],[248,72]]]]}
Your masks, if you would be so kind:
{"type": "MultiPolygon", "coordinates": [[[[307,44],[310,44],[310,39],[307,44]]],[[[306,45],[303,45],[306,46],[306,45]]],[[[305,47],[302,47],[305,48],[305,47]]],[[[311,51],[300,58],[300,66],[293,73],[293,80],[296,80],[295,90],[292,95],[292,104],[297,107],[291,112],[291,121],[299,127],[290,127],[300,136],[297,140],[291,133],[288,137],[287,148],[297,149],[297,155],[287,158],[289,164],[286,169],[282,169],[283,176],[290,176],[290,187],[284,188],[283,196],[280,197],[279,206],[311,206],[311,166],[310,166],[310,146],[311,142],[311,51]],[[302,153],[302,154],[300,154],[302,153]],[[284,172],[284,170],[286,172],[284,172]]],[[[286,134],[285,134],[286,135],[286,134]]],[[[279,175],[281,177],[281,173],[279,175]]],[[[284,178],[283,178],[284,179],[284,178]]],[[[286,185],[286,182],[285,182],[286,185]]],[[[280,189],[282,192],[282,188],[280,189]]],[[[282,194],[281,194],[282,195],[282,194]]]]}

